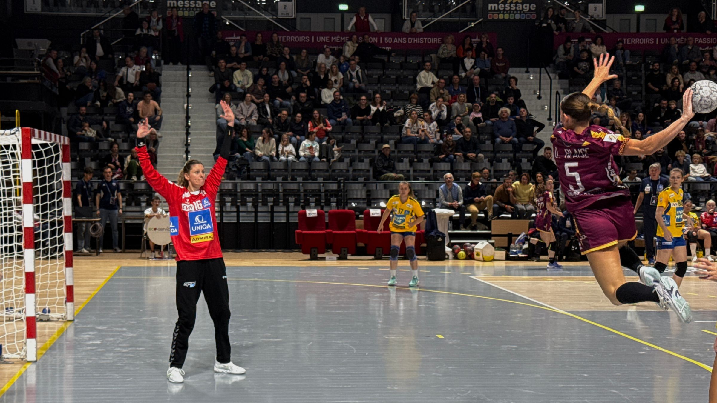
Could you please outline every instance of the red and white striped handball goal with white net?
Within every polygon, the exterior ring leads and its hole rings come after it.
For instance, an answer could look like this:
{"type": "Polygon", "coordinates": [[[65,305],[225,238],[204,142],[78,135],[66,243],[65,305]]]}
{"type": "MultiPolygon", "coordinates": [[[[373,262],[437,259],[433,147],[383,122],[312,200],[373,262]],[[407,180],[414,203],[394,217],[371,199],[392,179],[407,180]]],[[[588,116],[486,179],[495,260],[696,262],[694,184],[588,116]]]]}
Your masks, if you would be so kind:
{"type": "Polygon", "coordinates": [[[0,131],[0,343],[37,361],[37,321],[72,321],[70,141],[33,128],[0,131]]]}

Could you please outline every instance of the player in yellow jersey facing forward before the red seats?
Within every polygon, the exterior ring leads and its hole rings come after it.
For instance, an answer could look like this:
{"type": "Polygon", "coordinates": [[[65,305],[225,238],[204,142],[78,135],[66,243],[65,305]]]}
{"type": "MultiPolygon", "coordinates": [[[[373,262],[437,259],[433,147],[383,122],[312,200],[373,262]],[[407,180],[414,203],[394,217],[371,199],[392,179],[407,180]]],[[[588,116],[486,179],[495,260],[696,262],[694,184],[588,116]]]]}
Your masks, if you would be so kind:
{"type": "Polygon", "coordinates": [[[381,224],[377,231],[380,233],[384,228],[384,222],[391,216],[389,228],[391,229],[391,278],[389,285],[396,285],[396,267],[399,265],[399,250],[401,242],[406,242],[406,256],[411,264],[413,278],[408,283],[409,287],[418,285],[418,260],[416,257],[416,231],[418,225],[423,222],[424,214],[421,204],[413,194],[411,184],[401,182],[399,194],[391,196],[386,203],[386,210],[381,217],[381,224]]]}

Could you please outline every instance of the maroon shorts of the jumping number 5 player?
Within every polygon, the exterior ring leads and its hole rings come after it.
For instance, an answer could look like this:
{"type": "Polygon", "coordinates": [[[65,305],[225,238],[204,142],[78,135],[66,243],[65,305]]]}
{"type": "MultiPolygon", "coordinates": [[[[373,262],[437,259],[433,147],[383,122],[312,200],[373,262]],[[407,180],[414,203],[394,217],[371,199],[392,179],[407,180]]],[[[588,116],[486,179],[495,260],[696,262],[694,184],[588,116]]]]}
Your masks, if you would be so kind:
{"type": "Polygon", "coordinates": [[[585,255],[619,241],[634,240],[637,228],[632,208],[629,197],[618,195],[571,212],[575,217],[580,252],[585,255]]]}

